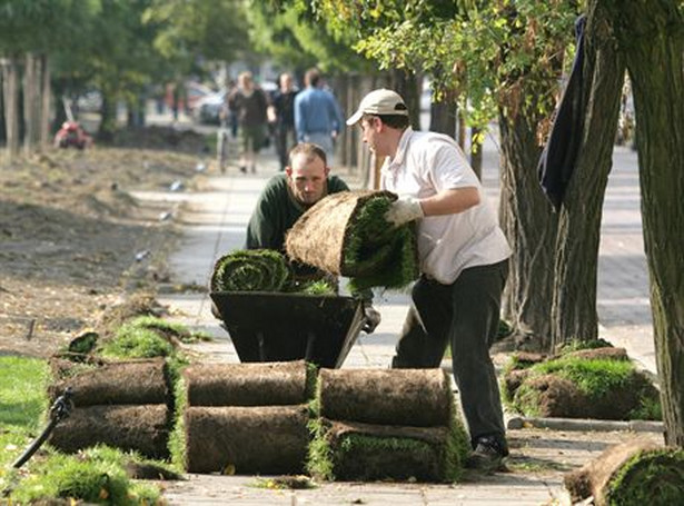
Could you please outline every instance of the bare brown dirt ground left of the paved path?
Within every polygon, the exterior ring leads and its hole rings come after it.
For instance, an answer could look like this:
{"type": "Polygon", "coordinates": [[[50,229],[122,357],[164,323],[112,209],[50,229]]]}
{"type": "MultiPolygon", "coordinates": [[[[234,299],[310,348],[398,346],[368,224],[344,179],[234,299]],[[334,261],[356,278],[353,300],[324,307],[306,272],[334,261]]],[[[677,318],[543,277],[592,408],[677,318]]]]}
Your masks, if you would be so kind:
{"type": "Polygon", "coordinates": [[[0,354],[49,356],[166,278],[171,210],[129,191],[191,187],[205,140],[151,128],[116,143],[0,161],[0,354]]]}

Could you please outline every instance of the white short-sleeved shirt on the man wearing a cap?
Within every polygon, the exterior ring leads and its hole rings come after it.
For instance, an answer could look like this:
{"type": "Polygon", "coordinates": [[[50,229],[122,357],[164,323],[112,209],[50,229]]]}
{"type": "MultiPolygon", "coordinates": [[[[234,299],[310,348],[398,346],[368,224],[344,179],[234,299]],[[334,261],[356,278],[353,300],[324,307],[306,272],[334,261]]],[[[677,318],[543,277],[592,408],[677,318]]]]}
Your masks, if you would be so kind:
{"type": "Polygon", "coordinates": [[[448,136],[404,131],[394,159],[383,166],[383,189],[419,199],[442,190],[475,187],[479,204],[463,212],[418,220],[420,270],[449,285],[468,267],[505,260],[510,248],[460,147],[448,136]]]}

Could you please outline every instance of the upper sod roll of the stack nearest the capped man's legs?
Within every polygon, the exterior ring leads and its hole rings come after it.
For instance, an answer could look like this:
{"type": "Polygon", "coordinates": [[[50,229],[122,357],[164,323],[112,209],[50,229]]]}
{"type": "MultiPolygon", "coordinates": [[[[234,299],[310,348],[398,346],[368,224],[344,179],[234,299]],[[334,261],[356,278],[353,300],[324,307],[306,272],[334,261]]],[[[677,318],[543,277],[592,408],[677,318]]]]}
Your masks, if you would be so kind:
{"type": "Polygon", "coordinates": [[[378,425],[448,426],[453,394],[442,369],[321,369],[320,416],[378,425]]]}

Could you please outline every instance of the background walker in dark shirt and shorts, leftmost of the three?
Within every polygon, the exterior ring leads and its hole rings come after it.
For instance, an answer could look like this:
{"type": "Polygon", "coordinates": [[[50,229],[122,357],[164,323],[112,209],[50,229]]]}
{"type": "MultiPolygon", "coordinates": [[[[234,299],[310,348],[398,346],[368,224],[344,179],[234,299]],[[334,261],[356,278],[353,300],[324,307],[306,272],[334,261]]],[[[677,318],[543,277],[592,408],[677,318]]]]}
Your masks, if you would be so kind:
{"type": "Polygon", "coordinates": [[[251,72],[238,76],[238,88],[228,97],[228,107],[237,116],[239,126],[241,172],[257,171],[257,157],[266,135],[266,93],[255,86],[251,72]]]}

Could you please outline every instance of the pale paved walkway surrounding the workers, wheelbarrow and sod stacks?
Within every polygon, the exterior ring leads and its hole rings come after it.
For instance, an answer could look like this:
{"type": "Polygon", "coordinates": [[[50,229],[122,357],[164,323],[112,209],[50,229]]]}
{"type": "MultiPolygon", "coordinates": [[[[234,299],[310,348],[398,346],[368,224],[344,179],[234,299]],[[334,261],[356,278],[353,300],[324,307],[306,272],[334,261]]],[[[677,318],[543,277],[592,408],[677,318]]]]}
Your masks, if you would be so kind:
{"type": "MultiPolygon", "coordinates": [[[[498,197],[498,153],[485,145],[483,181],[492,199],[498,197]]],[[[170,259],[174,285],[207,286],[214,262],[222,254],[242,247],[245,228],[266,180],[277,172],[275,155],[267,151],[256,175],[241,175],[230,167],[225,176],[207,175],[201,192],[139,192],[141,199],[182,201],[177,224],[184,239],[170,259]]],[[[604,206],[598,272],[598,315],[602,337],[655,371],[648,286],[641,232],[636,155],[616,148],[614,169],[604,206]]],[[[350,186],[354,177],[341,172],[350,186]]],[[[351,175],[353,176],[353,175],[351,175]]],[[[494,205],[494,202],[492,202],[494,205]]],[[[207,292],[160,294],[174,319],[204,329],[215,341],[194,348],[207,361],[239,361],[230,339],[210,314],[207,292]]],[[[386,368],[408,306],[406,294],[378,294],[375,299],[383,321],[371,336],[361,334],[343,367],[386,368]]],[[[624,440],[623,433],[549,433],[510,430],[512,460],[516,466],[541,466],[537,473],[499,473],[478,476],[455,486],[419,484],[324,484],[315,490],[269,490],[255,487],[255,477],[191,475],[168,486],[170,504],[235,505],[539,505],[564,497],[563,472],[598,455],[607,445],[624,440]],[[551,463],[551,464],[549,464],[551,463]]],[[[656,437],[657,436],[653,436],[656,437]]],[[[562,504],[562,503],[555,503],[562,504]]]]}

